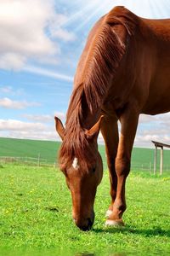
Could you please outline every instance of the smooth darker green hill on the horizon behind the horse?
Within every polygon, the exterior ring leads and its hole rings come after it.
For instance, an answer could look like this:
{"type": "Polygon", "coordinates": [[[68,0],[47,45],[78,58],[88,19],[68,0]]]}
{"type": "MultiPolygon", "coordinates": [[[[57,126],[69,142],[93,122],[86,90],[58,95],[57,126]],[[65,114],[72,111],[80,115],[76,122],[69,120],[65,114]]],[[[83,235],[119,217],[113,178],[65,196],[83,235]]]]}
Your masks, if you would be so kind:
{"type": "MultiPolygon", "coordinates": [[[[59,145],[59,142],[52,141],[0,137],[0,156],[38,158],[39,155],[41,159],[45,159],[48,160],[48,162],[54,163],[58,155],[59,145]]],[[[106,168],[104,145],[99,145],[99,152],[103,158],[104,167],[106,168]]],[[[133,148],[132,166],[145,167],[151,165],[153,167],[153,162],[154,149],[133,148]]],[[[164,150],[164,166],[170,166],[170,150],[164,150]]]]}

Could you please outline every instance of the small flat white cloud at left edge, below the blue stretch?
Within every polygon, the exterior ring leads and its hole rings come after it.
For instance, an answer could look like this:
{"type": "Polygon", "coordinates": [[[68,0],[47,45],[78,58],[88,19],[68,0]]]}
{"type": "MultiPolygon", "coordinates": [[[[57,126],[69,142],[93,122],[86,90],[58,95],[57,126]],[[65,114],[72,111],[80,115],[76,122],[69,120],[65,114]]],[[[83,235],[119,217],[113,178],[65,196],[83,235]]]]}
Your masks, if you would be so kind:
{"type": "Polygon", "coordinates": [[[0,99],[0,107],[12,108],[12,109],[22,109],[27,107],[38,107],[40,106],[37,102],[17,102],[13,101],[7,97],[0,99]]]}

